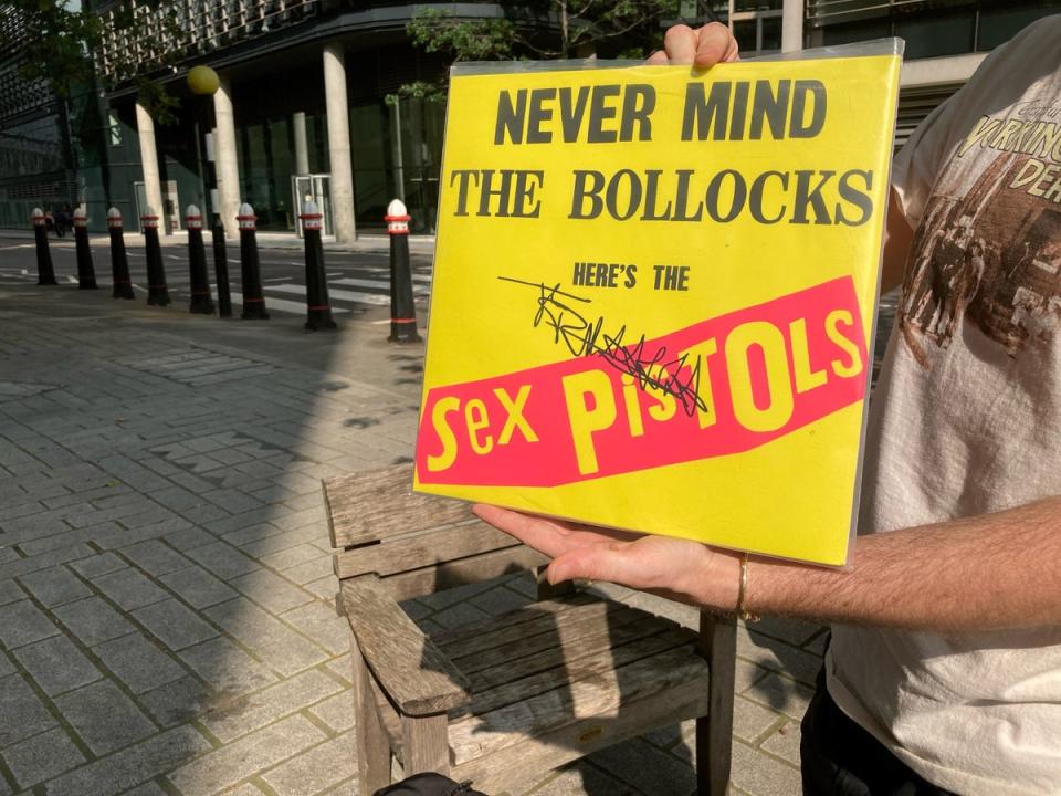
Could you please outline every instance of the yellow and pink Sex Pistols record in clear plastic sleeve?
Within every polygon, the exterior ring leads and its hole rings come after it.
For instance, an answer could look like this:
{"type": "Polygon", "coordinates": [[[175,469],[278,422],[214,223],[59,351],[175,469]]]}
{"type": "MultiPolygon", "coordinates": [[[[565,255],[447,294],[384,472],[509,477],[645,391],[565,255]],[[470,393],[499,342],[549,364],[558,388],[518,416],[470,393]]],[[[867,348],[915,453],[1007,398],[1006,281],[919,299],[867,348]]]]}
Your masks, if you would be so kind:
{"type": "Polygon", "coordinates": [[[454,67],[414,488],[843,565],[901,52],[454,67]]]}

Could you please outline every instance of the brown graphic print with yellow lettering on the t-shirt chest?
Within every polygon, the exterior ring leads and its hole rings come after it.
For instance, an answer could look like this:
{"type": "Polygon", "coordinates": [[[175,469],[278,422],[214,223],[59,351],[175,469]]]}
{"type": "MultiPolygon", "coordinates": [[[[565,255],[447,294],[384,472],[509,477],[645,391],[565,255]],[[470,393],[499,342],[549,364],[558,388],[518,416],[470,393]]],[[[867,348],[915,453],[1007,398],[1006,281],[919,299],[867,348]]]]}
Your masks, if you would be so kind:
{"type": "Polygon", "coordinates": [[[963,316],[1011,357],[1061,326],[1061,107],[1029,115],[981,117],[948,166],[979,174],[960,195],[944,175],[925,207],[899,317],[924,367],[963,316]]]}

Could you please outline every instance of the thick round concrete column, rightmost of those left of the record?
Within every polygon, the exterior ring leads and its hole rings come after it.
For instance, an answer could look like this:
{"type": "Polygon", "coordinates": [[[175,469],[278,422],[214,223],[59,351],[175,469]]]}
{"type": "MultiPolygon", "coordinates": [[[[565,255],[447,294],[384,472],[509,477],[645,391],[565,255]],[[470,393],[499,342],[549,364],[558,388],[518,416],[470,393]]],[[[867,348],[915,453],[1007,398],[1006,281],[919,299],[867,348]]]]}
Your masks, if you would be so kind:
{"type": "Polygon", "coordinates": [[[354,223],[354,166],[350,160],[350,117],[346,101],[343,45],[324,45],[324,97],[328,114],[328,158],[332,171],[332,221],[335,240],[357,238],[354,223]]]}

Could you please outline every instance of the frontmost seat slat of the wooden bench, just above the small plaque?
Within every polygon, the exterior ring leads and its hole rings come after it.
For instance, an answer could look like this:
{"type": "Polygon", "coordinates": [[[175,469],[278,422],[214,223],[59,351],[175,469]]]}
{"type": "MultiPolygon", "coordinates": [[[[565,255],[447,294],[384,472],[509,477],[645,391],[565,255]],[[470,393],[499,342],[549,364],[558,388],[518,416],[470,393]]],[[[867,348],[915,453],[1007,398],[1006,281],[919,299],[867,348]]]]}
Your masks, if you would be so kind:
{"type": "Polygon", "coordinates": [[[707,662],[693,645],[666,650],[601,677],[451,724],[453,762],[461,765],[581,719],[600,716],[607,723],[606,716],[617,715],[620,704],[674,685],[686,684],[692,702],[698,699],[694,690],[706,691],[707,682],[707,662]]]}

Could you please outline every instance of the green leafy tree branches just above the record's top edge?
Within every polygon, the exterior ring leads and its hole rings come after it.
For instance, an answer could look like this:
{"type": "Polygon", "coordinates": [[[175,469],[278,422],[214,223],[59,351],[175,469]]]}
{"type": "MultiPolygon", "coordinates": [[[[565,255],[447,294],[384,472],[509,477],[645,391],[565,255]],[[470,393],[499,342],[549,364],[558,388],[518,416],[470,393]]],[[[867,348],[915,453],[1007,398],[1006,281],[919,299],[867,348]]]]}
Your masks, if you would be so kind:
{"type": "MultiPolygon", "coordinates": [[[[448,9],[424,8],[406,30],[428,53],[448,64],[460,61],[510,61],[518,57],[567,59],[602,51],[612,57],[642,57],[659,45],[662,19],[677,14],[677,0],[523,0],[501,2],[505,15],[459,19],[448,9]]],[[[445,77],[401,86],[401,96],[439,100],[445,77]]]]}

